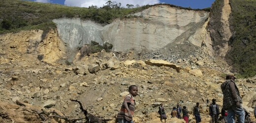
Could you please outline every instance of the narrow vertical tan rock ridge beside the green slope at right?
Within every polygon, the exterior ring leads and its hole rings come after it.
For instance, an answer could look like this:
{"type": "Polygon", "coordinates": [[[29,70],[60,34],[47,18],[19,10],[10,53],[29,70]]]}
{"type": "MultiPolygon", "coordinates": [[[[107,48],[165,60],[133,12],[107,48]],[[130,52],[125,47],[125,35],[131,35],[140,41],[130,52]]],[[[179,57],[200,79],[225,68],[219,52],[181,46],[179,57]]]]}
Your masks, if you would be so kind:
{"type": "Polygon", "coordinates": [[[215,55],[224,58],[229,47],[228,40],[232,33],[229,29],[231,7],[229,0],[216,0],[212,7],[210,18],[210,33],[215,55]]]}

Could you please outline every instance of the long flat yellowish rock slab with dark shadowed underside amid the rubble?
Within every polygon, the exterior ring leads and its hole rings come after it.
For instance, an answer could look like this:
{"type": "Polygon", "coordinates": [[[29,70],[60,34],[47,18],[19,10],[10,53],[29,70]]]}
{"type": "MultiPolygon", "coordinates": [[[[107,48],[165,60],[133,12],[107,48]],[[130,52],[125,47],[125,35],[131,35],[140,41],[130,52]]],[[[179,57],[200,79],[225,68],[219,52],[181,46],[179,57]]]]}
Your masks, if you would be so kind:
{"type": "Polygon", "coordinates": [[[168,66],[168,67],[175,69],[177,72],[180,72],[180,70],[181,70],[181,67],[179,65],[176,65],[171,62],[163,61],[163,60],[147,60],[147,61],[145,61],[145,63],[148,65],[168,66]]]}

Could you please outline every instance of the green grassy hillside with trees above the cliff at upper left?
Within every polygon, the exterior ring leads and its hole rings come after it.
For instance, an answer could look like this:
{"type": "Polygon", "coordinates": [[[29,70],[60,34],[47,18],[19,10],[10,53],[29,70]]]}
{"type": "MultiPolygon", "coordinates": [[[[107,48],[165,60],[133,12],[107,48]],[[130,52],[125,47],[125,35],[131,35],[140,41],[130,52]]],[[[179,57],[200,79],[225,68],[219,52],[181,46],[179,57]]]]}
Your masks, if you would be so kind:
{"type": "MultiPolygon", "coordinates": [[[[132,4],[127,4],[126,6],[128,8],[121,7],[121,3],[112,2],[111,0],[107,1],[105,6],[99,8],[95,5],[85,8],[33,1],[1,0],[0,34],[32,29],[48,31],[56,28],[52,20],[58,18],[81,18],[105,25],[116,18],[131,17],[127,15],[142,11],[152,5],[135,5],[134,7],[132,4]]],[[[183,9],[192,10],[191,8],[183,9]]],[[[209,8],[203,10],[209,11],[209,8]]]]}

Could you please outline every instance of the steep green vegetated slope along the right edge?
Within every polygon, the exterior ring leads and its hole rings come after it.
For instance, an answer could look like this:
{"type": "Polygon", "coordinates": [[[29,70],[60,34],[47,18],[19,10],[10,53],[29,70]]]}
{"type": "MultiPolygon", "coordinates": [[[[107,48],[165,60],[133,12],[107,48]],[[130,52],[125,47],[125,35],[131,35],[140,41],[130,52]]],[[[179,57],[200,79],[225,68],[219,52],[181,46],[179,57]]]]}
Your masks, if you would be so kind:
{"type": "Polygon", "coordinates": [[[233,35],[227,59],[243,77],[256,75],[256,0],[230,0],[233,35]]]}

